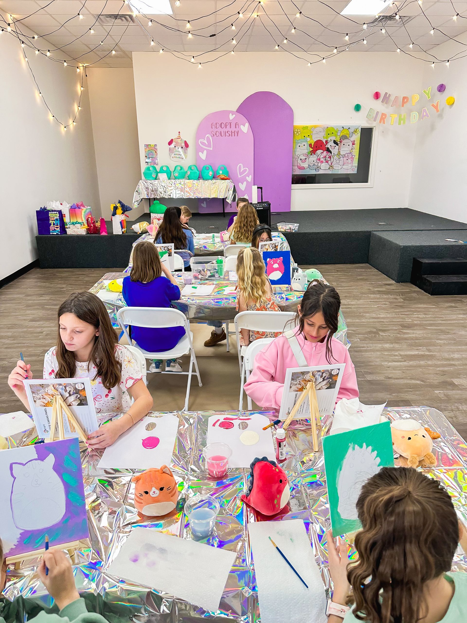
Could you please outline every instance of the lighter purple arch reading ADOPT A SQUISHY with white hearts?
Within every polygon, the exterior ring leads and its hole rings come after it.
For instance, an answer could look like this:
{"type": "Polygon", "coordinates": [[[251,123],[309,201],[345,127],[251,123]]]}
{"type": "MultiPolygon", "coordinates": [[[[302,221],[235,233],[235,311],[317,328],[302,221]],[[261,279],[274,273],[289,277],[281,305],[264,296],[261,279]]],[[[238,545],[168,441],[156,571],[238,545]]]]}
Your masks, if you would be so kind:
{"type": "MultiPolygon", "coordinates": [[[[199,170],[210,164],[214,173],[224,164],[238,196],[252,201],[253,132],[241,113],[217,110],[204,117],[196,131],[196,163],[199,170]]],[[[222,212],[222,199],[199,199],[198,206],[200,212],[222,212]]],[[[225,209],[234,210],[227,202],[225,209]]]]}

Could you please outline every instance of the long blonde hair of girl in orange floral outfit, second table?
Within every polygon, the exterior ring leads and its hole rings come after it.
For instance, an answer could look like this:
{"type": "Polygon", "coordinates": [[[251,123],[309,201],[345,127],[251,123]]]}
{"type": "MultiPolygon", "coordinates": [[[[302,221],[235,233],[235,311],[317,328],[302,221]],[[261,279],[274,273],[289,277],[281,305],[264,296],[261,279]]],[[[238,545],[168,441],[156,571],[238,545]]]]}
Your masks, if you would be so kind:
{"type": "Polygon", "coordinates": [[[245,297],[245,304],[250,298],[257,305],[267,302],[270,293],[266,267],[258,249],[247,247],[240,250],[237,255],[237,279],[238,293],[245,297]]]}

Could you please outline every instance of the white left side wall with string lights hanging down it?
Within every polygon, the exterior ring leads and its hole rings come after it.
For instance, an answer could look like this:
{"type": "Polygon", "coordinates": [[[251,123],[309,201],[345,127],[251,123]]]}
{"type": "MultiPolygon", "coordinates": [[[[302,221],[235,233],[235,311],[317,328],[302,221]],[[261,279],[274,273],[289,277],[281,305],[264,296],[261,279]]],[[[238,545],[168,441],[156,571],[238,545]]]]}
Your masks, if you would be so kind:
{"type": "MultiPolygon", "coordinates": [[[[36,57],[32,50],[27,55],[53,114],[70,123],[80,76],[73,67],[36,57]]],[[[37,258],[35,211],[45,202],[83,201],[97,214],[100,205],[87,90],[77,125],[64,132],[37,94],[19,41],[6,31],[0,57],[1,279],[37,258]]]]}

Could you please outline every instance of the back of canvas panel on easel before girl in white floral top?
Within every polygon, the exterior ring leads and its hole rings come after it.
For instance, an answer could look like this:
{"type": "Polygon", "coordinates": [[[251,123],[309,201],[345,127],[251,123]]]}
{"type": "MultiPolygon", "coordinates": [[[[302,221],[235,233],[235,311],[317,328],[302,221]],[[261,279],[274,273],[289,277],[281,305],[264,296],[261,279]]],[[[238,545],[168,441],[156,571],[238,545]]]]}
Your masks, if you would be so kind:
{"type": "MultiPolygon", "coordinates": [[[[50,435],[52,399],[48,399],[48,402],[45,403],[50,404],[50,406],[42,406],[42,403],[45,402],[47,396],[50,396],[49,388],[52,385],[55,389],[62,389],[62,391],[64,388],[72,388],[75,392],[74,395],[79,396],[79,404],[70,404],[70,411],[77,419],[78,424],[80,424],[82,429],[88,434],[98,429],[99,425],[94,407],[90,379],[27,379],[24,381],[24,387],[26,388],[32,419],[34,420],[39,437],[47,437],[50,435]]],[[[78,433],[70,428],[66,416],[64,417],[64,429],[65,437],[78,437],[78,433]]],[[[58,421],[55,431],[58,435],[58,421]]]]}

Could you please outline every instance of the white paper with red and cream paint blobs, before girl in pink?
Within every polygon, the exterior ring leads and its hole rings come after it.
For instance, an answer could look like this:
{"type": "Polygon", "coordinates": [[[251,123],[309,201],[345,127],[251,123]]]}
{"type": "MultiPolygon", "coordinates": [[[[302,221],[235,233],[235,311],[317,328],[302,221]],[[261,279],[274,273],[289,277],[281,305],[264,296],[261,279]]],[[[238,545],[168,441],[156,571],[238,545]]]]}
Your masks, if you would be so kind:
{"type": "Polygon", "coordinates": [[[245,417],[235,416],[211,416],[207,424],[207,444],[227,444],[232,449],[232,456],[229,459],[229,467],[250,467],[253,459],[267,457],[276,460],[271,429],[263,430],[263,427],[270,424],[266,416],[258,413],[245,414],[245,417]],[[244,422],[244,424],[242,424],[244,422]],[[230,426],[231,428],[222,428],[230,426]],[[242,428],[248,424],[246,428],[242,428]],[[222,426],[220,426],[222,425],[222,426]],[[245,445],[242,442],[244,432],[257,432],[258,442],[254,445],[245,445]]]}

